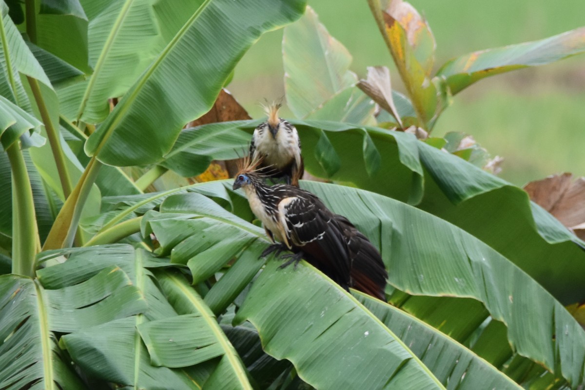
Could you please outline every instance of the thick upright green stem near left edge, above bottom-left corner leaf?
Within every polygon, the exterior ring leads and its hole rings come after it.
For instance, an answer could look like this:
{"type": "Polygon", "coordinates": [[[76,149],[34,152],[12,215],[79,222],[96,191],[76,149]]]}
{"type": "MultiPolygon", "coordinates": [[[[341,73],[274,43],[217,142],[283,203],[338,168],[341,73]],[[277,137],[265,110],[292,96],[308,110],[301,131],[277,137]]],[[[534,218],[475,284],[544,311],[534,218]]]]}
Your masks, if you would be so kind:
{"type": "Polygon", "coordinates": [[[35,276],[35,255],[39,230],[35,201],[20,142],[6,149],[12,170],[12,273],[35,276]]]}

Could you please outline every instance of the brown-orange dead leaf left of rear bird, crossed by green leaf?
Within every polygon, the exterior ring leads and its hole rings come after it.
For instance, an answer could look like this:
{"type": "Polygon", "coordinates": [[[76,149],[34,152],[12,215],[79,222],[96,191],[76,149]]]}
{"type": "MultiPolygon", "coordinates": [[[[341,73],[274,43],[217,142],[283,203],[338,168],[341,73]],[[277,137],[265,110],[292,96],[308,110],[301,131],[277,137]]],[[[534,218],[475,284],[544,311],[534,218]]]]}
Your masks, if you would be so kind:
{"type": "MultiPolygon", "coordinates": [[[[248,115],[245,108],[236,101],[232,94],[223,88],[219,93],[218,98],[215,100],[213,107],[211,107],[211,110],[202,117],[189,122],[185,125],[185,128],[216,122],[244,121],[247,119],[252,119],[252,117],[248,115]]],[[[239,159],[225,161],[213,160],[207,170],[201,175],[195,177],[195,180],[197,180],[197,182],[209,182],[211,180],[221,180],[233,177],[238,173],[238,160],[239,159]]]]}

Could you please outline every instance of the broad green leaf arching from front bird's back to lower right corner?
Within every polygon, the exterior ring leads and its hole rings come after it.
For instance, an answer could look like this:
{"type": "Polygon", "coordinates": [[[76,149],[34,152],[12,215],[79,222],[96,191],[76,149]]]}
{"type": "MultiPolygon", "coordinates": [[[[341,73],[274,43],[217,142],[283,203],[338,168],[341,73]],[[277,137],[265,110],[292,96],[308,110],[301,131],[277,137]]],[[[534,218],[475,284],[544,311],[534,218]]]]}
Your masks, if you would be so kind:
{"type": "Polygon", "coordinates": [[[583,380],[585,351],[576,345],[585,343],[585,332],[552,295],[498,252],[444,220],[414,208],[408,213],[410,206],[378,194],[349,187],[333,193],[314,182],[303,186],[380,245],[393,286],[412,295],[479,300],[508,326],[508,341],[519,354],[573,385],[583,380]]]}

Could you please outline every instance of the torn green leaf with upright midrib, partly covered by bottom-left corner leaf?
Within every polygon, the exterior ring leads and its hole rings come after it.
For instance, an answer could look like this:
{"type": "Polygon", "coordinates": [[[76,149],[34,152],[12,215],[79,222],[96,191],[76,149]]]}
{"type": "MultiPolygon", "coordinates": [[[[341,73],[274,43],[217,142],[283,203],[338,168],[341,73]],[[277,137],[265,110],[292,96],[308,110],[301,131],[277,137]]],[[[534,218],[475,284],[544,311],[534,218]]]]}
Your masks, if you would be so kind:
{"type": "Polygon", "coordinates": [[[142,314],[122,317],[92,327],[84,327],[61,337],[60,346],[82,371],[92,377],[119,385],[156,388],[161,383],[173,389],[197,389],[205,381],[209,367],[185,367],[180,370],[154,367],[141,343],[136,327],[150,320],[176,316],[177,313],[160,291],[146,266],[160,266],[147,252],[130,245],[107,245],[42,252],[40,261],[50,262],[67,255],[66,262],[38,272],[39,279],[51,288],[77,283],[100,269],[119,269],[127,275],[131,287],[143,302],[142,314]]]}

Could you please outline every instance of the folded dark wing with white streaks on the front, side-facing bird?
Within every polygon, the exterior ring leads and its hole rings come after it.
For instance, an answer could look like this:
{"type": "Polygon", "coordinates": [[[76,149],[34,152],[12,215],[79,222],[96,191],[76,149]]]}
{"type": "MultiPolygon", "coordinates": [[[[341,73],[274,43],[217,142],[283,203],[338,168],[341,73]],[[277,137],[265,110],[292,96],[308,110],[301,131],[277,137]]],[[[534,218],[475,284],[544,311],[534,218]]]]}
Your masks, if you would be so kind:
{"type": "Polygon", "coordinates": [[[312,194],[298,189],[291,192],[278,203],[278,215],[289,241],[307,261],[349,288],[350,253],[333,213],[312,194]]]}

